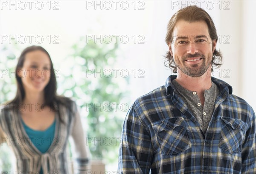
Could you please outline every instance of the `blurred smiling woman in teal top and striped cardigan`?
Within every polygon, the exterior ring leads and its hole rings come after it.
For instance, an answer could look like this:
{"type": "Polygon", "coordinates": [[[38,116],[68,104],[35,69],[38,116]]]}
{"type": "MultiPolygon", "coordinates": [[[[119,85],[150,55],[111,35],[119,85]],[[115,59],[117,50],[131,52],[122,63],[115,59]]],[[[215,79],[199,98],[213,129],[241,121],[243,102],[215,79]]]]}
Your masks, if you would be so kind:
{"type": "Polygon", "coordinates": [[[76,103],[56,94],[49,53],[41,46],[23,50],[16,67],[17,94],[0,114],[0,128],[11,142],[17,173],[71,173],[68,137],[75,145],[74,173],[88,170],[88,150],[76,103]]]}

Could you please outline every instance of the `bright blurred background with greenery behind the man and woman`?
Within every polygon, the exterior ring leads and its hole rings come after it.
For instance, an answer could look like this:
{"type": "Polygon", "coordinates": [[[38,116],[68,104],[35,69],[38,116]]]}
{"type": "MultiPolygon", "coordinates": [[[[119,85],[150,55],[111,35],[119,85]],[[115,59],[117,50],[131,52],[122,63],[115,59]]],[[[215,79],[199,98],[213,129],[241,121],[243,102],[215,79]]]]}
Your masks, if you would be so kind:
{"type": "MultiPolygon", "coordinates": [[[[164,85],[166,26],[179,9],[197,5],[212,17],[223,65],[213,77],[256,110],[255,1],[4,1],[0,11],[0,102],[16,94],[15,66],[27,46],[43,46],[57,74],[58,94],[73,97],[93,160],[116,171],[123,120],[134,100],[164,85]]],[[[72,144],[70,156],[72,157],[72,144]]],[[[15,157],[0,146],[0,170],[15,157]]]]}

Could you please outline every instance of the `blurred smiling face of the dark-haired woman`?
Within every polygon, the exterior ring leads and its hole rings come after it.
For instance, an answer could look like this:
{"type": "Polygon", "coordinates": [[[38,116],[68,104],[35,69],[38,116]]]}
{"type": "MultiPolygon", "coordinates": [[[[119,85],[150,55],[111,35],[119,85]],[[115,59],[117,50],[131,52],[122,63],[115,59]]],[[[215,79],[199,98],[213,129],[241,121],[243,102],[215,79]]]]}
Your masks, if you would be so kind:
{"type": "Polygon", "coordinates": [[[40,50],[28,52],[23,67],[18,71],[25,91],[43,91],[50,80],[50,68],[46,53],[40,50]]]}

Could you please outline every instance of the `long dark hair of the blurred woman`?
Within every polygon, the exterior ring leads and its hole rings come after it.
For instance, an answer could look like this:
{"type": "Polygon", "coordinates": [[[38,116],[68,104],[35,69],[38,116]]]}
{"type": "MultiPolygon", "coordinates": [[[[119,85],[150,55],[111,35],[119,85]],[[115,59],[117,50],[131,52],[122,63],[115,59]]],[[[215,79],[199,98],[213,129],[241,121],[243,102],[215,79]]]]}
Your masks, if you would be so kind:
{"type": "Polygon", "coordinates": [[[47,84],[47,86],[44,88],[44,103],[42,104],[43,106],[49,106],[49,108],[52,109],[52,111],[58,111],[58,116],[61,120],[61,122],[63,122],[63,119],[61,119],[61,113],[59,111],[59,106],[60,105],[64,105],[66,108],[68,109],[72,109],[71,107],[71,101],[69,98],[67,97],[62,97],[62,96],[58,96],[56,91],[57,91],[57,81],[56,81],[56,76],[54,73],[54,68],[53,68],[53,64],[52,64],[52,60],[51,57],[49,55],[49,53],[41,46],[29,46],[27,48],[25,48],[21,54],[20,57],[18,59],[18,63],[15,69],[15,78],[17,81],[17,93],[15,98],[8,104],[9,108],[15,108],[18,109],[20,103],[23,102],[24,98],[25,98],[25,90],[21,81],[22,77],[18,76],[18,70],[22,69],[23,67],[23,63],[25,61],[26,58],[26,54],[32,51],[43,51],[44,53],[46,53],[49,57],[50,60],[50,80],[49,83],[47,84]]]}

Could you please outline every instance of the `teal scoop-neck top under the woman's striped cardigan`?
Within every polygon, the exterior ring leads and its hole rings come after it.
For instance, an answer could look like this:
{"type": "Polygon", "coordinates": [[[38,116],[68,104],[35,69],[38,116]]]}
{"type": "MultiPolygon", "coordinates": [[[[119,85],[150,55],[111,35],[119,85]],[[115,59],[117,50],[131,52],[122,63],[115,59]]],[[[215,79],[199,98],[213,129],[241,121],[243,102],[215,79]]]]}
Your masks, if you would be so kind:
{"type": "MultiPolygon", "coordinates": [[[[23,120],[22,120],[22,124],[24,126],[24,129],[25,129],[27,135],[29,136],[31,142],[35,145],[35,147],[39,151],[41,151],[42,154],[47,152],[47,150],[51,146],[53,138],[54,138],[56,120],[54,120],[52,125],[49,126],[49,128],[47,128],[44,131],[38,131],[38,130],[34,130],[32,128],[29,128],[29,126],[27,126],[23,122],[23,120]]],[[[43,174],[42,168],[40,169],[39,174],[43,174]]]]}

